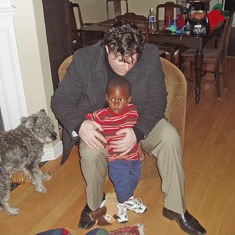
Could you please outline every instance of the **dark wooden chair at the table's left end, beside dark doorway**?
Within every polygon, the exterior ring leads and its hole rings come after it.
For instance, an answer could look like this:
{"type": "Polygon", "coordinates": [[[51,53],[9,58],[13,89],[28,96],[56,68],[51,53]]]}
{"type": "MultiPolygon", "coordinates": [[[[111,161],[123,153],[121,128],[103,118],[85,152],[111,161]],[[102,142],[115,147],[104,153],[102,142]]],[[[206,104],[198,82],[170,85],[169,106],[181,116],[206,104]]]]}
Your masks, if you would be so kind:
{"type": "Polygon", "coordinates": [[[72,30],[74,51],[99,41],[99,35],[96,37],[94,33],[89,35],[89,33],[85,34],[81,31],[81,28],[91,25],[92,23],[83,23],[80,6],[77,3],[69,2],[69,8],[69,22],[72,30]],[[79,22],[77,22],[75,15],[78,16],[79,22]]]}

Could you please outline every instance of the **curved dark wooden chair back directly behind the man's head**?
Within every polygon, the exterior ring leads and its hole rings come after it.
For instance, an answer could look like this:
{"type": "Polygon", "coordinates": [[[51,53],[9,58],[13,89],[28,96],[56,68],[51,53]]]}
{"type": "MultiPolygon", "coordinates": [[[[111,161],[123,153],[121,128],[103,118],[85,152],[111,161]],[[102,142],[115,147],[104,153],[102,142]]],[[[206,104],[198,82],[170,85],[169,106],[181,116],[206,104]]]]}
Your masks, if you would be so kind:
{"type": "Polygon", "coordinates": [[[133,12],[127,12],[124,15],[119,15],[115,17],[115,21],[120,20],[120,19],[126,19],[136,24],[143,32],[145,42],[149,42],[148,19],[145,16],[136,15],[133,12]]]}

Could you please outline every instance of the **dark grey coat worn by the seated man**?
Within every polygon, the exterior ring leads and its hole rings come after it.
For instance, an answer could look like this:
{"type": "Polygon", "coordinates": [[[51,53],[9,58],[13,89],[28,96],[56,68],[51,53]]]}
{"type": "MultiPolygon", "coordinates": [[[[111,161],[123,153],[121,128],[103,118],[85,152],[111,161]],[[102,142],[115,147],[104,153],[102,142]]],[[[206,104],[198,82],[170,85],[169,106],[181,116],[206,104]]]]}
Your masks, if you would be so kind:
{"type": "MultiPolygon", "coordinates": [[[[86,120],[86,113],[105,106],[105,90],[108,81],[105,48],[98,42],[81,48],[74,58],[63,80],[51,99],[51,107],[63,125],[63,159],[68,158],[79,137],[72,132],[86,120]]],[[[145,136],[164,117],[166,87],[158,47],[145,44],[142,58],[125,75],[132,86],[132,103],[139,118],[135,127],[145,136]]]]}

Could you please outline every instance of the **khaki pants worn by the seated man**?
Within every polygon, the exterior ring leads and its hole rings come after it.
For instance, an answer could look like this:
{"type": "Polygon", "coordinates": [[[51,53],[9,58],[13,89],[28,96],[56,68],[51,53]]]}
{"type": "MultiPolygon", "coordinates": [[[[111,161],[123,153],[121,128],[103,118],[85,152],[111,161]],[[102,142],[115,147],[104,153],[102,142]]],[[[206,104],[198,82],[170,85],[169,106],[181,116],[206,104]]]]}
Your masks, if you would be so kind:
{"type": "MultiPolygon", "coordinates": [[[[157,158],[157,167],[165,194],[164,207],[179,214],[186,211],[182,149],[176,129],[165,119],[160,120],[142,141],[143,149],[157,158]]],[[[99,208],[107,174],[108,150],[92,150],[81,141],[80,156],[87,188],[87,204],[91,210],[99,208]]]]}

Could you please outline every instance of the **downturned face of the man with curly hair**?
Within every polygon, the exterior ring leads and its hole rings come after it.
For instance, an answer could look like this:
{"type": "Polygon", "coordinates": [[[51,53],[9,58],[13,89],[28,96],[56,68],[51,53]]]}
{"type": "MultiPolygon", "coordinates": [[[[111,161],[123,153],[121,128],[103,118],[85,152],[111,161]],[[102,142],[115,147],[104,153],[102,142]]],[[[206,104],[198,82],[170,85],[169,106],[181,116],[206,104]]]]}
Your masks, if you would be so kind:
{"type": "Polygon", "coordinates": [[[125,61],[122,61],[121,56],[115,57],[115,55],[112,52],[109,52],[107,46],[105,46],[105,48],[108,53],[108,61],[112,70],[120,76],[125,76],[133,68],[133,66],[137,61],[136,54],[132,56],[133,60],[130,56],[127,56],[125,58],[125,61]]]}

